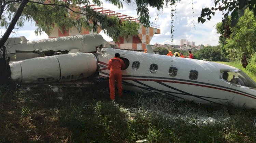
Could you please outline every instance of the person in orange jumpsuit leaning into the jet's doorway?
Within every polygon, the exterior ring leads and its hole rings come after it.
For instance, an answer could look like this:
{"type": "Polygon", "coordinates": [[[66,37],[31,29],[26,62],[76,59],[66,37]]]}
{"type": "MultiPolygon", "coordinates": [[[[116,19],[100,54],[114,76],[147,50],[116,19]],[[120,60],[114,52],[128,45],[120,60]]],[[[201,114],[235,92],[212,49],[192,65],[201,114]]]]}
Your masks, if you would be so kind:
{"type": "Polygon", "coordinates": [[[117,82],[118,96],[123,96],[123,86],[122,86],[122,73],[121,68],[125,68],[125,63],[119,58],[120,54],[115,53],[115,57],[109,60],[108,69],[109,74],[109,89],[110,89],[110,99],[115,100],[115,81],[117,82]]]}

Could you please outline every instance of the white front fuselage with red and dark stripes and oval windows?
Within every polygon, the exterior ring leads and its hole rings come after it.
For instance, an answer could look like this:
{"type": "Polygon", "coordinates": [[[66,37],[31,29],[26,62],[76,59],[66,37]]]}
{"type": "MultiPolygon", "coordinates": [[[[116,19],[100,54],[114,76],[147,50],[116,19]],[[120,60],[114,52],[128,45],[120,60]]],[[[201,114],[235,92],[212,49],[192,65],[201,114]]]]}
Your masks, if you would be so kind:
{"type": "Polygon", "coordinates": [[[126,66],[129,63],[122,71],[124,89],[155,91],[204,104],[256,108],[255,89],[228,84],[220,77],[221,70],[239,70],[237,68],[203,60],[104,48],[96,54],[100,76],[109,76],[108,61],[115,53],[125,59],[126,66]],[[137,69],[133,62],[140,62],[137,69]],[[157,65],[157,71],[152,72],[152,64],[157,65]],[[176,73],[170,74],[169,69],[176,69],[176,73]],[[193,76],[195,72],[197,75],[193,76]]]}

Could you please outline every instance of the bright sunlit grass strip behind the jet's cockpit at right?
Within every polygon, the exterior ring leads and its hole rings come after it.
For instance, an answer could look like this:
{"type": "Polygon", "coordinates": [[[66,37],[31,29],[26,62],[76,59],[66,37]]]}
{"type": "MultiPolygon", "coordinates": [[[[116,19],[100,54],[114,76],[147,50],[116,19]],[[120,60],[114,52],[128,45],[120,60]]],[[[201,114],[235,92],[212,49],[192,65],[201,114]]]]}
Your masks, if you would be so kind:
{"type": "MultiPolygon", "coordinates": [[[[256,75],[254,74],[254,71],[252,70],[252,67],[250,66],[250,64],[248,64],[246,68],[243,68],[240,61],[233,61],[233,62],[218,61],[218,63],[236,67],[236,68],[242,70],[243,72],[245,72],[248,76],[250,76],[256,82],[256,75]]],[[[253,68],[255,70],[254,65],[253,65],[253,68]]]]}

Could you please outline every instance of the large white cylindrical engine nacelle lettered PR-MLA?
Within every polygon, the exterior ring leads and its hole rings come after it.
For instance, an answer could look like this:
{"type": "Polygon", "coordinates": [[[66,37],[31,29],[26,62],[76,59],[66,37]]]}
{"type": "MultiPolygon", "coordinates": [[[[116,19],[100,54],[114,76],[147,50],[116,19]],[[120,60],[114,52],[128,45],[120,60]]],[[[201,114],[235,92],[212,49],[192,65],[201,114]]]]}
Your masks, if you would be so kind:
{"type": "Polygon", "coordinates": [[[12,62],[11,79],[20,83],[75,81],[97,70],[92,53],[70,53],[12,62]]]}

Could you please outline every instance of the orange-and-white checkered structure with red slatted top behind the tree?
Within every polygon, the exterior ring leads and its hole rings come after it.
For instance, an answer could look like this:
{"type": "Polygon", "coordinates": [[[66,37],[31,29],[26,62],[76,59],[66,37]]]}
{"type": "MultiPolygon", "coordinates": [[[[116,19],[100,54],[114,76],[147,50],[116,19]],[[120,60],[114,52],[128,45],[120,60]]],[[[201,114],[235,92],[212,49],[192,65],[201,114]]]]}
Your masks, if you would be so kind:
{"type": "MultiPolygon", "coordinates": [[[[88,5],[86,5],[88,7],[88,5]]],[[[99,7],[96,5],[89,5],[92,10],[97,11],[102,14],[106,14],[108,16],[116,16],[121,20],[129,20],[140,23],[138,18],[133,18],[115,11],[108,10],[103,7],[99,7]]],[[[72,13],[70,14],[72,15],[72,13]]],[[[81,16],[82,17],[82,16],[81,16]]],[[[101,29],[98,28],[98,33],[100,33],[101,29]]],[[[136,36],[128,36],[128,37],[120,37],[120,40],[116,42],[116,47],[119,49],[130,49],[130,50],[144,50],[146,48],[146,44],[150,44],[151,39],[154,34],[160,34],[160,26],[159,25],[151,25],[151,27],[144,27],[140,24],[140,28],[138,30],[139,34],[136,36]]],[[[56,38],[62,36],[73,36],[73,35],[84,35],[84,34],[92,34],[93,31],[89,31],[86,29],[82,29],[79,31],[77,28],[72,28],[69,31],[65,31],[63,29],[59,29],[55,27],[54,30],[49,34],[49,38],[56,38]]]]}

